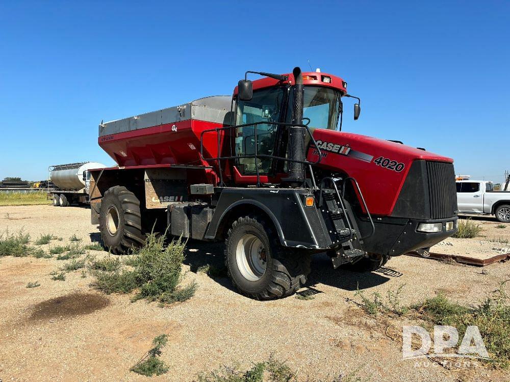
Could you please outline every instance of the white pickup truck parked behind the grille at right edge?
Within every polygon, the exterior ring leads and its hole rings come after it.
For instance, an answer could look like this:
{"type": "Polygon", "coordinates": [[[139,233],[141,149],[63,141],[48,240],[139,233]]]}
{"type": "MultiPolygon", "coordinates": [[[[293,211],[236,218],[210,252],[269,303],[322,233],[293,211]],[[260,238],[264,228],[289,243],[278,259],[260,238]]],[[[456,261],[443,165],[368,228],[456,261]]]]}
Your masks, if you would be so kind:
{"type": "Polygon", "coordinates": [[[510,191],[494,191],[492,182],[457,180],[457,207],[460,213],[492,214],[510,223],[510,191]]]}

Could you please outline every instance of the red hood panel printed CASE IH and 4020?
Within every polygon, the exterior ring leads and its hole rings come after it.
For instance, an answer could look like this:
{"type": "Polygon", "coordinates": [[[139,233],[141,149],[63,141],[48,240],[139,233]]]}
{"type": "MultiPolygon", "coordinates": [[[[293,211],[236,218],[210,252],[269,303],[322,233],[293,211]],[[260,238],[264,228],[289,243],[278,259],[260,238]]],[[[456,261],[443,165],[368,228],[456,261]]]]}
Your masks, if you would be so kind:
{"type": "MultiPolygon", "coordinates": [[[[414,160],[453,162],[445,156],[366,135],[315,129],[313,136],[322,155],[317,166],[358,180],[370,212],[376,215],[391,214],[414,160]]],[[[308,160],[317,158],[317,150],[309,150],[308,160]]]]}

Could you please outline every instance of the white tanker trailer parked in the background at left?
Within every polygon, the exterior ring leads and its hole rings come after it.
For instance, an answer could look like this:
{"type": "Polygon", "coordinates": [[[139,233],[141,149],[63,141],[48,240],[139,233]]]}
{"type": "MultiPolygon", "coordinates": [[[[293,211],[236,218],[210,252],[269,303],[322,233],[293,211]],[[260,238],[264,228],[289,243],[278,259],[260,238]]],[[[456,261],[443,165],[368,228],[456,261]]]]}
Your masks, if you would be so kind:
{"type": "Polygon", "coordinates": [[[105,167],[102,163],[97,162],[49,166],[49,180],[56,187],[49,192],[53,197],[53,205],[66,207],[69,204],[88,204],[90,186],[90,172],[88,170],[105,167]]]}

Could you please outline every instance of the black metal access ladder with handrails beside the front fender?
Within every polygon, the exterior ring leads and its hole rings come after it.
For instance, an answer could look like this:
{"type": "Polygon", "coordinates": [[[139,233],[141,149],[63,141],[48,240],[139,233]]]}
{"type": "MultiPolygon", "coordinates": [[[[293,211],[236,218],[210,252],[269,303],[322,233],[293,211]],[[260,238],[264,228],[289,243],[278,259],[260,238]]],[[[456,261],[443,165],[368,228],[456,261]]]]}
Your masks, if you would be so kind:
{"type": "Polygon", "coordinates": [[[373,235],[375,227],[358,182],[350,177],[345,179],[323,178],[319,189],[319,206],[323,215],[328,216],[331,223],[329,234],[332,242],[330,247],[335,251],[334,256],[331,256],[333,267],[336,269],[342,264],[353,262],[354,260],[359,260],[367,256],[367,252],[363,248],[363,239],[373,235]],[[337,181],[343,182],[342,193],[338,190],[337,181]],[[351,181],[355,185],[363,206],[365,207],[365,211],[372,225],[372,232],[369,235],[361,236],[352,209],[343,198],[347,181],[351,181]],[[326,182],[329,182],[333,188],[324,188],[326,182]]]}

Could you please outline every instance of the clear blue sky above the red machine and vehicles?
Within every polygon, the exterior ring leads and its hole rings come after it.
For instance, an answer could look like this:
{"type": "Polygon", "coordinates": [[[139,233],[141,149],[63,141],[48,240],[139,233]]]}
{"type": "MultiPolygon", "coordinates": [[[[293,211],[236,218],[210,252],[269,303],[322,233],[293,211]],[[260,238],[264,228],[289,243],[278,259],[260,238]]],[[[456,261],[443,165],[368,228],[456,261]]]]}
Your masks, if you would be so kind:
{"type": "Polygon", "coordinates": [[[510,170],[510,3],[0,3],[0,179],[94,160],[101,120],[232,94],[246,70],[337,74],[344,130],[510,170]],[[293,15],[293,13],[296,13],[293,15]]]}

